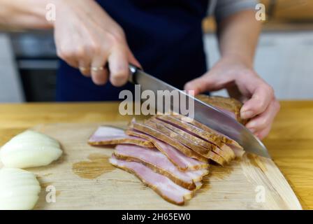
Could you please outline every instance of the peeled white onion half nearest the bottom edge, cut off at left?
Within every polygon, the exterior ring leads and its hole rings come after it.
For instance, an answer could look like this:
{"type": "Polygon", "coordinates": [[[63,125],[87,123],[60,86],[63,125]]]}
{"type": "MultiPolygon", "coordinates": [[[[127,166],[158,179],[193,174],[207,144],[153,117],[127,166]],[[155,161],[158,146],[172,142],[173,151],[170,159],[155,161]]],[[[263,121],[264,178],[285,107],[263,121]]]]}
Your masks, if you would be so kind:
{"type": "Polygon", "coordinates": [[[22,169],[0,169],[0,209],[33,209],[41,186],[36,176],[22,169]]]}

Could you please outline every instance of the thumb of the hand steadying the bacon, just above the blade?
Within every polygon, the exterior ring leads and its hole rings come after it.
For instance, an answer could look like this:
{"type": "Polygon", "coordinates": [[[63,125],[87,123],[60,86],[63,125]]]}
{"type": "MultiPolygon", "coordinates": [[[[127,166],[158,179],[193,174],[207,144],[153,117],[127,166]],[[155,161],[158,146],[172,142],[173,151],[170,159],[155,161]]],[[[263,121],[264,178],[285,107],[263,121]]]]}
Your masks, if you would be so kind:
{"type": "Polygon", "coordinates": [[[220,90],[223,86],[219,83],[219,77],[213,74],[205,73],[199,78],[189,81],[184,85],[184,90],[194,90],[194,94],[200,94],[202,92],[220,90]]]}

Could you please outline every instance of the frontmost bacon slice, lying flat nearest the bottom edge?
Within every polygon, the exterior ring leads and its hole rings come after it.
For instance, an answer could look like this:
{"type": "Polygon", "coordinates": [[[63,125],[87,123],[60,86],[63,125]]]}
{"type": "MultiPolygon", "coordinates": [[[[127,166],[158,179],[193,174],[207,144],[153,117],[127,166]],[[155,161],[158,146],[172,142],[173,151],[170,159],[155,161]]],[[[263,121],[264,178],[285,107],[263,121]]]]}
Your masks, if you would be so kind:
{"type": "Polygon", "coordinates": [[[178,186],[166,176],[153,172],[152,169],[139,162],[117,160],[115,156],[112,155],[110,163],[115,167],[134,174],[145,185],[152,188],[152,190],[163,197],[164,200],[173,204],[182,205],[185,200],[191,199],[194,194],[193,191],[178,186]]]}

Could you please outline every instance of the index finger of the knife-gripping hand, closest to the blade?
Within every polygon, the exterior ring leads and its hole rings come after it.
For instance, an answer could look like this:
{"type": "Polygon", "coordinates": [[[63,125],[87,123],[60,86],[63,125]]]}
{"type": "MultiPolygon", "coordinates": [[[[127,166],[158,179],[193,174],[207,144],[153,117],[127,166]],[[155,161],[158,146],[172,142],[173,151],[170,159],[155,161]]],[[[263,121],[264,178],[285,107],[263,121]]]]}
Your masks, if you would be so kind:
{"type": "Polygon", "coordinates": [[[126,50],[115,48],[108,57],[110,82],[117,87],[124,85],[129,78],[129,62],[126,50]]]}

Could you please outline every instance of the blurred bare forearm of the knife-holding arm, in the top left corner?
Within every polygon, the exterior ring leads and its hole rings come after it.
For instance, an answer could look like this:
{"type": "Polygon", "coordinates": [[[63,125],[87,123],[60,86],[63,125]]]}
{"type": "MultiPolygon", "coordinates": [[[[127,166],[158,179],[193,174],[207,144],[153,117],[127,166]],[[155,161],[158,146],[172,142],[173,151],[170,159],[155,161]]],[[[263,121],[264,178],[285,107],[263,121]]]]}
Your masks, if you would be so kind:
{"type": "Polygon", "coordinates": [[[1,0],[0,26],[22,29],[51,28],[46,20],[46,6],[58,0],[1,0]]]}

